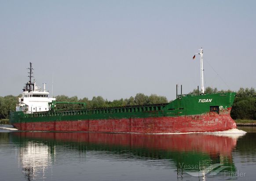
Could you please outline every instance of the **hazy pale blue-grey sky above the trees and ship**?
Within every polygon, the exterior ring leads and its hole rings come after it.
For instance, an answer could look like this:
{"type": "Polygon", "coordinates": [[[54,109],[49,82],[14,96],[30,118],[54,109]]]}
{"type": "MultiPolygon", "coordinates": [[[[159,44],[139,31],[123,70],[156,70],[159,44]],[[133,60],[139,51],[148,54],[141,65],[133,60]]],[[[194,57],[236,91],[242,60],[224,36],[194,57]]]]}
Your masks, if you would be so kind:
{"type": "Polygon", "coordinates": [[[205,87],[256,87],[255,1],[0,0],[0,96],[18,95],[29,61],[54,95],[175,99],[205,87]],[[215,70],[213,70],[212,69],[215,70]],[[217,73],[216,73],[217,72],[217,73]]]}

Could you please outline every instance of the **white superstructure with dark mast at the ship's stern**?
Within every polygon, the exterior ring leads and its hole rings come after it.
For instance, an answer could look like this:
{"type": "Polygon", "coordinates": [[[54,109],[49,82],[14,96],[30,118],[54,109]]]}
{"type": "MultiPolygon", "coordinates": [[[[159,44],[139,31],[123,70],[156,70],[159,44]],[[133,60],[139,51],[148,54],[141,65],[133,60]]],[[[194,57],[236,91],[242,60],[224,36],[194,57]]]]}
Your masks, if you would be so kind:
{"type": "Polygon", "coordinates": [[[49,110],[48,103],[51,103],[55,98],[49,97],[49,92],[44,89],[42,90],[39,86],[36,85],[36,82],[31,82],[33,77],[33,68],[32,63],[30,62],[29,71],[29,82],[27,82],[23,89],[22,97],[18,99],[18,105],[16,106],[16,111],[23,111],[26,114],[43,112],[49,110]]]}

